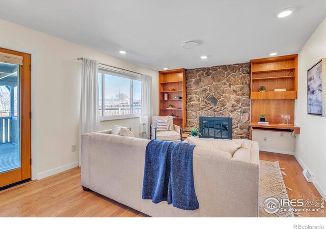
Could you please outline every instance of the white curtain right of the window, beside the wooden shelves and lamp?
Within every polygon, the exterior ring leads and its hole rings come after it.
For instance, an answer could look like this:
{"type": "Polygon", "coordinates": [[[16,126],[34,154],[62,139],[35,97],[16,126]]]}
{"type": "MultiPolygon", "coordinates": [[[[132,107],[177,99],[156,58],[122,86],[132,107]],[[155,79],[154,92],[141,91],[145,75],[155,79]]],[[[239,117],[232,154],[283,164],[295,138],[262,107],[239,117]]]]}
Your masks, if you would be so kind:
{"type": "Polygon", "coordinates": [[[153,115],[152,108],[152,77],[142,75],[142,116],[148,116],[146,123],[146,132],[150,133],[150,124],[153,115]]]}

